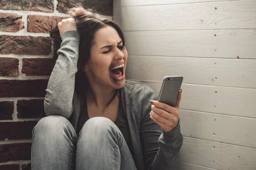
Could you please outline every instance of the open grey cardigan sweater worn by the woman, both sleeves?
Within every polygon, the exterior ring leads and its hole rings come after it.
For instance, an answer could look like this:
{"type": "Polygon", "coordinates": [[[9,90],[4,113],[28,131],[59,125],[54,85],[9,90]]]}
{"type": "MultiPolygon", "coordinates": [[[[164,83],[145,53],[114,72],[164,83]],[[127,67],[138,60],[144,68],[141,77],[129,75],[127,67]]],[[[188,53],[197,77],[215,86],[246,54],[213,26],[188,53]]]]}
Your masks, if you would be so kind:
{"type": "MultiPolygon", "coordinates": [[[[79,32],[65,31],[61,39],[58,59],[46,90],[44,110],[47,116],[60,115],[69,119],[76,130],[81,113],[81,101],[75,91],[79,32]]],[[[180,124],[169,132],[163,132],[151,120],[149,100],[156,100],[157,96],[147,85],[126,80],[121,96],[137,170],[176,170],[183,142],[180,124]]]]}

